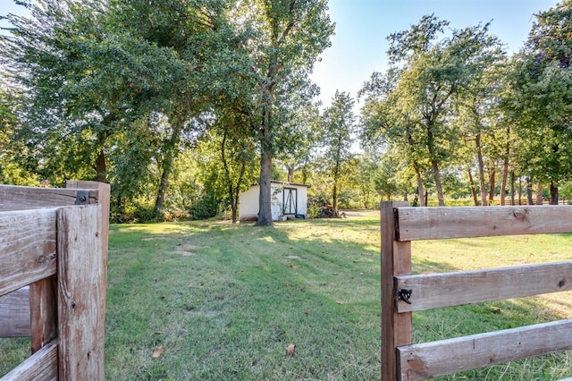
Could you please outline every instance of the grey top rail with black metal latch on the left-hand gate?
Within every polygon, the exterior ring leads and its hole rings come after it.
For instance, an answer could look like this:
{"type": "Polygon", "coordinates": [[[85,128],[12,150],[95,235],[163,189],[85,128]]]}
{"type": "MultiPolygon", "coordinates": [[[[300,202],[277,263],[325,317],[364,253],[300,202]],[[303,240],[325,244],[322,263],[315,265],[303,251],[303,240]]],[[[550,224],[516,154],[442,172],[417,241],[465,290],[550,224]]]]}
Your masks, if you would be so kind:
{"type": "MultiPolygon", "coordinates": [[[[88,193],[88,202],[97,203],[97,190],[88,193]]],[[[0,185],[0,211],[63,207],[76,204],[78,190],[0,185]]]]}

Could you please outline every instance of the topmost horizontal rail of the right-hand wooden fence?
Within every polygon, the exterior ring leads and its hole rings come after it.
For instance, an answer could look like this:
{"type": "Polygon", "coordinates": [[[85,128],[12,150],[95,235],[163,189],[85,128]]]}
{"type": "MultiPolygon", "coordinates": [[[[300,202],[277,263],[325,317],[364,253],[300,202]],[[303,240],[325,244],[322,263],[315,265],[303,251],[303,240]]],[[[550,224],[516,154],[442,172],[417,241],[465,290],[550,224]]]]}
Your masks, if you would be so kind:
{"type": "Polygon", "coordinates": [[[398,241],[572,232],[572,206],[400,207],[398,241]]]}

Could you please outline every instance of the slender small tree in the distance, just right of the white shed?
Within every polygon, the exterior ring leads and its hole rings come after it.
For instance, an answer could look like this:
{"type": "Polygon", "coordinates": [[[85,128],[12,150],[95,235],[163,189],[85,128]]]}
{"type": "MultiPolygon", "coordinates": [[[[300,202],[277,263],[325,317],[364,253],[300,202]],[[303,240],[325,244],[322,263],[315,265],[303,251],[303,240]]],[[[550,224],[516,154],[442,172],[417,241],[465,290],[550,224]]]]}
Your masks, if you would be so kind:
{"type": "Polygon", "coordinates": [[[332,179],[332,207],[338,207],[338,185],[342,165],[351,157],[353,134],[356,132],[356,117],[353,114],[354,100],[348,93],[336,90],[332,105],[324,111],[322,146],[324,159],[332,179]]]}

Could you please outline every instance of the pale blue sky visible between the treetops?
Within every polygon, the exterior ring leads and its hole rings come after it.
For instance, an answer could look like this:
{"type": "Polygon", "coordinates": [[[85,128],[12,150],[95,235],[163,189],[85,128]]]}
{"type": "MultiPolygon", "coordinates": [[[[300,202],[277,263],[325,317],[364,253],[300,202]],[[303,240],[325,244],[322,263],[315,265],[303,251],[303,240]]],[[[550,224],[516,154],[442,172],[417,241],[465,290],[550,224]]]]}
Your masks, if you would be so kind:
{"type": "Polygon", "coordinates": [[[545,11],[557,0],[330,0],[330,18],[336,22],[332,47],[315,64],[314,82],[329,106],[336,89],[356,97],[373,72],[383,72],[387,36],[434,13],[450,21],[451,28],[465,28],[492,21],[490,31],[506,44],[509,53],[523,46],[534,13],[545,11]]]}

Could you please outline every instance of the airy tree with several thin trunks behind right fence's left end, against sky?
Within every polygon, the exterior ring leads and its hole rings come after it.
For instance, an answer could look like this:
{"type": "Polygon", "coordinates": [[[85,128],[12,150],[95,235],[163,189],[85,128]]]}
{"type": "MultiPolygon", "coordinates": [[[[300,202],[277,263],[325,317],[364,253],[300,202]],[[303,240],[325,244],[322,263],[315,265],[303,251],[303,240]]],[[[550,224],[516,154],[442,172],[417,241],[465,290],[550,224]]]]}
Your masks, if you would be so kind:
{"type": "MultiPolygon", "coordinates": [[[[372,106],[374,120],[381,122],[378,125],[389,140],[408,147],[419,190],[422,165],[430,165],[440,206],[444,205],[441,167],[454,160],[460,139],[451,123],[454,100],[482,76],[483,63],[498,44],[488,35],[488,24],[452,30],[450,38],[438,39],[447,25],[448,21],[428,15],[410,30],[391,34],[392,66],[384,80],[374,74],[368,84],[381,89],[381,105],[372,106]]],[[[368,102],[375,102],[371,97],[375,92],[366,92],[368,102]]]]}

